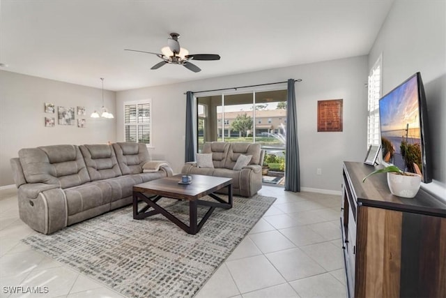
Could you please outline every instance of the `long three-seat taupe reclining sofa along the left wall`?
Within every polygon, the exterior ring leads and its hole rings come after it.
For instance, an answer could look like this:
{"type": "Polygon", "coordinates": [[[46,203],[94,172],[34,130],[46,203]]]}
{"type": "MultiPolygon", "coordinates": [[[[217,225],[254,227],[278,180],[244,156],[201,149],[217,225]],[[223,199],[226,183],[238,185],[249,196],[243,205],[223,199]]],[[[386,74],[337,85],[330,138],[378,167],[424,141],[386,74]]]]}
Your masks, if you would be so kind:
{"type": "Polygon", "coordinates": [[[11,166],[20,218],[44,234],[130,204],[134,184],[173,174],[145,144],[125,142],[20,149],[11,166]]]}

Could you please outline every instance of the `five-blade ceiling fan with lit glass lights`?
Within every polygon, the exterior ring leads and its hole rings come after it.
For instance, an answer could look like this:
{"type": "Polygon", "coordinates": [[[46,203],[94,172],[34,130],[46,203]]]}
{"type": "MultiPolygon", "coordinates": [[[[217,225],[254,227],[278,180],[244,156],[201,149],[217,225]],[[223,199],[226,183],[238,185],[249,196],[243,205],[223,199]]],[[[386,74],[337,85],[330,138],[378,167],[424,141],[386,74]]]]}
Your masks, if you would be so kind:
{"type": "Polygon", "coordinates": [[[195,64],[190,63],[190,60],[220,60],[220,55],[217,54],[189,54],[189,51],[180,47],[178,37],[180,37],[180,34],[170,33],[170,38],[167,38],[167,46],[162,47],[161,54],[130,49],[125,49],[125,51],[154,54],[157,55],[157,57],[160,57],[162,61],[152,66],[151,69],[157,69],[166,64],[179,64],[192,70],[194,73],[198,73],[201,69],[195,64]]]}

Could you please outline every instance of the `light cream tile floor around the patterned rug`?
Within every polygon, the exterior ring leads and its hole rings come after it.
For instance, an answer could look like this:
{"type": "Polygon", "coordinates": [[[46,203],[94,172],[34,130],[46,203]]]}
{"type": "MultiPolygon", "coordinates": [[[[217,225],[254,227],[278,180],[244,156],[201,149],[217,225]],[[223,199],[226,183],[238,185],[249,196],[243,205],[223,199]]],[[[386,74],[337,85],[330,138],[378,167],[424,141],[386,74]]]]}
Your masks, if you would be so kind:
{"type": "MultiPolygon", "coordinates": [[[[346,297],[340,196],[275,186],[259,194],[277,200],[197,298],[346,297]]],[[[17,192],[0,191],[0,298],[123,297],[20,242],[33,233],[19,218],[17,192]],[[11,286],[40,286],[47,293],[10,294],[11,286]]]]}

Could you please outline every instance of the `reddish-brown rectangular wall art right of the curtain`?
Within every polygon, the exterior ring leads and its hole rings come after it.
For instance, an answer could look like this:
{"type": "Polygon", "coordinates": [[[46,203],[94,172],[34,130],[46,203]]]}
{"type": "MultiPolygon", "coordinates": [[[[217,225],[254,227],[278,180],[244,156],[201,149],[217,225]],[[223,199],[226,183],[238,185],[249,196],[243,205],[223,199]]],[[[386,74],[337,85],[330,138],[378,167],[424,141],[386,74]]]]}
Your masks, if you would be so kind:
{"type": "Polygon", "coordinates": [[[318,100],[318,132],[342,131],[342,99],[318,100]]]}

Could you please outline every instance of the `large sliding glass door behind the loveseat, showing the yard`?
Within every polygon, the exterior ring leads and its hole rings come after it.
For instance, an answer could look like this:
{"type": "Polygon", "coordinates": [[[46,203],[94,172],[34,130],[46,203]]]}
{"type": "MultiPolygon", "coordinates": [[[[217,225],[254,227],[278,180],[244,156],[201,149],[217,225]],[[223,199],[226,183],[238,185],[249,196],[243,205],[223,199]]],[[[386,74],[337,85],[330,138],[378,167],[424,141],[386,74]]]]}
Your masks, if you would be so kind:
{"type": "Polygon", "coordinates": [[[220,94],[197,98],[197,144],[256,142],[266,150],[263,182],[283,185],[286,90],[220,94]]]}

